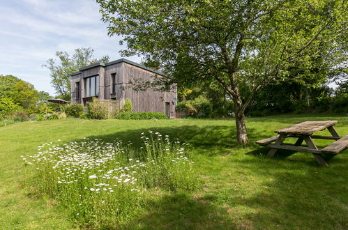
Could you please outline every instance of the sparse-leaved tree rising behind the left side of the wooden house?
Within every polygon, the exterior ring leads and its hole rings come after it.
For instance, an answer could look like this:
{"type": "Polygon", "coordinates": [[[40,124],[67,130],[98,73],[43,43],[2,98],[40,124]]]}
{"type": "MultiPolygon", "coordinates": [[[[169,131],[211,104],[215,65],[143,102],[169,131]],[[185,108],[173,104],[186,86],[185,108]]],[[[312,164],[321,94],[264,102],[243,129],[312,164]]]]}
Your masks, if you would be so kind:
{"type": "Polygon", "coordinates": [[[70,74],[77,72],[79,68],[89,66],[94,63],[107,63],[109,56],[103,56],[100,59],[94,57],[94,50],[89,48],[75,49],[73,55],[70,56],[67,52],[56,52],[55,59],[48,59],[43,66],[48,68],[51,72],[51,84],[59,94],[59,98],[70,100],[71,86],[70,74]]]}

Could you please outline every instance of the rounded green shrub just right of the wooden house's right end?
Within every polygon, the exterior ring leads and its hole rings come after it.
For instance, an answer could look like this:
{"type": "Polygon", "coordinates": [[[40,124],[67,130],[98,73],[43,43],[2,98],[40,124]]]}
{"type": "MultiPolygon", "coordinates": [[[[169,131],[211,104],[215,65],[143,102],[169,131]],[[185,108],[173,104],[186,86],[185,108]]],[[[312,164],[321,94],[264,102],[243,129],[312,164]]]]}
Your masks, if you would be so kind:
{"type": "Polygon", "coordinates": [[[200,95],[195,100],[186,100],[178,102],[176,111],[186,112],[188,116],[195,116],[200,118],[210,117],[213,112],[213,106],[211,102],[200,95]]]}

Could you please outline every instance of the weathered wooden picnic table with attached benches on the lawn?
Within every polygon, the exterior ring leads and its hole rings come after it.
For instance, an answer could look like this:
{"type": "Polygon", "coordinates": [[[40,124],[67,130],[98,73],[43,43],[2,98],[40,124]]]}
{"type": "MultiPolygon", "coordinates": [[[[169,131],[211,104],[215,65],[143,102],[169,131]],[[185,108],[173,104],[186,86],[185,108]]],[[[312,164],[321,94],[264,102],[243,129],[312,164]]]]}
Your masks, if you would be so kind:
{"type": "Polygon", "coordinates": [[[335,128],[333,128],[333,125],[336,123],[338,123],[338,121],[305,121],[287,128],[275,130],[274,132],[278,133],[279,136],[256,141],[256,144],[271,147],[271,150],[267,154],[268,157],[273,157],[278,149],[308,152],[315,156],[319,164],[327,166],[328,164],[325,162],[324,158],[322,158],[321,153],[338,154],[348,146],[348,135],[340,137],[335,128]],[[331,136],[313,135],[313,133],[325,130],[326,128],[331,133],[331,136]],[[296,137],[296,143],[294,145],[282,144],[288,137],[296,137]],[[335,142],[325,148],[319,149],[312,139],[333,139],[335,142]],[[303,141],[305,141],[307,146],[301,146],[303,141]],[[272,144],[273,142],[275,142],[275,144],[272,144]]]}

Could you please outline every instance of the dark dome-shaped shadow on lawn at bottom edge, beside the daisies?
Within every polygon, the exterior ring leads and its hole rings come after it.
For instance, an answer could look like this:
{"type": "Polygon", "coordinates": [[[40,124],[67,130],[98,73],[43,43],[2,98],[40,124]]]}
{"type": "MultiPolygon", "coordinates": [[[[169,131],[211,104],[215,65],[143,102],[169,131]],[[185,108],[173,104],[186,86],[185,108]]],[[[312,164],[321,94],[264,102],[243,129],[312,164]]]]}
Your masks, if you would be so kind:
{"type": "Polygon", "coordinates": [[[236,229],[218,215],[215,206],[192,195],[169,194],[148,201],[149,210],[122,229],[236,229]]]}

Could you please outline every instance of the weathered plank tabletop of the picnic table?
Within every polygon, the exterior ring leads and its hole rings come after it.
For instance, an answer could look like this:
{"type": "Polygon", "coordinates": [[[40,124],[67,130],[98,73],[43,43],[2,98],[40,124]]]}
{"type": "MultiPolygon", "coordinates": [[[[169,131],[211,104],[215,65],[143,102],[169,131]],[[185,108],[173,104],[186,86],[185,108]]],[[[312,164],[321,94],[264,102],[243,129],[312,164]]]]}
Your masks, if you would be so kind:
{"type": "Polygon", "coordinates": [[[324,130],[332,125],[335,125],[338,121],[305,121],[296,125],[275,130],[279,134],[298,134],[298,135],[312,135],[314,132],[324,130]]]}

